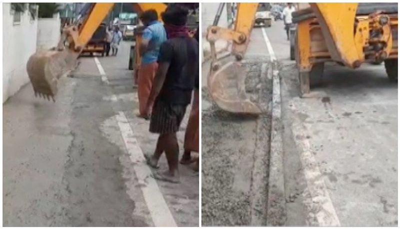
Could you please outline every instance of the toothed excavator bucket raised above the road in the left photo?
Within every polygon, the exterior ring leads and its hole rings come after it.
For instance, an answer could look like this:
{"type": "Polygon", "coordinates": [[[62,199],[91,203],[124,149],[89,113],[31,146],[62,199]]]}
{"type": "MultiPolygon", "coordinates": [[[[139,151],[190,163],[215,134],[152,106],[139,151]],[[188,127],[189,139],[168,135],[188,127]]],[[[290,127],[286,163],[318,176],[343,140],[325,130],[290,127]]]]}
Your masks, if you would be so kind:
{"type": "Polygon", "coordinates": [[[77,53],[63,50],[38,51],[30,56],[26,70],[35,96],[54,100],[58,79],[76,66],[77,53]]]}

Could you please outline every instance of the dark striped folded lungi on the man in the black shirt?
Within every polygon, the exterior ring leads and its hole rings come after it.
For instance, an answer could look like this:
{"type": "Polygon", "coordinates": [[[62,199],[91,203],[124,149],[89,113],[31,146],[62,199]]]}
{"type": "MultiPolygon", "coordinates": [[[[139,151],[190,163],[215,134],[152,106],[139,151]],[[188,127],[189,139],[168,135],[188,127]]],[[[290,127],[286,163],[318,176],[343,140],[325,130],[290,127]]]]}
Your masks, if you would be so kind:
{"type": "Polygon", "coordinates": [[[176,133],[182,122],[186,106],[170,104],[157,99],[150,118],[150,132],[158,134],[176,133]]]}

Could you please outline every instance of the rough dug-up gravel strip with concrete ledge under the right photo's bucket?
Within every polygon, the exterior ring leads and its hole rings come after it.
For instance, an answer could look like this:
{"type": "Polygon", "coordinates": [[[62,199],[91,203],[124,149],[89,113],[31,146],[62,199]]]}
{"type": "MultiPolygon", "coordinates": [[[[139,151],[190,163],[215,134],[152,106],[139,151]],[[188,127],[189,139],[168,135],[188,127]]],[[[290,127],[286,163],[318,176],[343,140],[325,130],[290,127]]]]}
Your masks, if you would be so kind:
{"type": "Polygon", "coordinates": [[[243,61],[245,89],[265,112],[221,111],[202,89],[202,225],[265,225],[271,128],[272,63],[243,61]]]}

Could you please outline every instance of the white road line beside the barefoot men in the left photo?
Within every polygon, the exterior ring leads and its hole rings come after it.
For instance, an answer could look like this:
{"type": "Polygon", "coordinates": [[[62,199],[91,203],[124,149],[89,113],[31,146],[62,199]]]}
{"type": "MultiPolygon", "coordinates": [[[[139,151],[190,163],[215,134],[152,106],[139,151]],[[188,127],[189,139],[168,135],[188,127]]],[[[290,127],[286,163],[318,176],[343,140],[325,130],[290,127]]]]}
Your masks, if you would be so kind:
{"type": "MultiPolygon", "coordinates": [[[[94,61],[101,76],[104,76],[108,81],[107,75],[96,57],[94,57],[94,61]]],[[[112,95],[112,97],[116,100],[115,95],[112,95]]],[[[133,137],[133,131],[122,111],[118,112],[116,121],[154,226],[177,226],[157,182],[151,176],[151,170],[145,163],[143,152],[136,138],[133,137]]]]}

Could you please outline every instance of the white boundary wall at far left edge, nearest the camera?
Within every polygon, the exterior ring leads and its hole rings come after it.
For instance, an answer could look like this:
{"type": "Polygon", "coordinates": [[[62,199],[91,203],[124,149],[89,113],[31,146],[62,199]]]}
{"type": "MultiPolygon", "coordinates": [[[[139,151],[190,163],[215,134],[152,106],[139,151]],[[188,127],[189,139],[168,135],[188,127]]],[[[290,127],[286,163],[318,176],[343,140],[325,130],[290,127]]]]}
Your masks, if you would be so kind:
{"type": "Polygon", "coordinates": [[[26,62],[36,51],[37,19],[31,21],[25,11],[20,23],[13,23],[10,3],[3,3],[3,103],[29,82],[26,62]]]}

